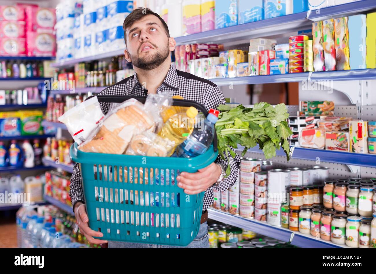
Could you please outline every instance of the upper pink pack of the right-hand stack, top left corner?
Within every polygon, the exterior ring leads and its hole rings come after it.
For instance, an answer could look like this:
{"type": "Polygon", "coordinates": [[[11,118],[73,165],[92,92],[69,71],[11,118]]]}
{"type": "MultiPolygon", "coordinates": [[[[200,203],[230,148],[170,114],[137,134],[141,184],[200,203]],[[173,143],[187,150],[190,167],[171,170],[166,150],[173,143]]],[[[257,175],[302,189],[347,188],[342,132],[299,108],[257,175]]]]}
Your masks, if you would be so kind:
{"type": "Polygon", "coordinates": [[[26,30],[53,29],[56,24],[55,9],[26,6],[26,30]]]}

